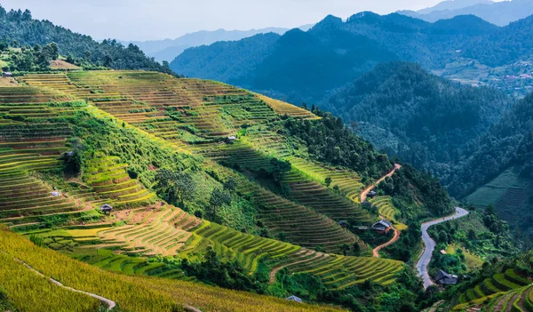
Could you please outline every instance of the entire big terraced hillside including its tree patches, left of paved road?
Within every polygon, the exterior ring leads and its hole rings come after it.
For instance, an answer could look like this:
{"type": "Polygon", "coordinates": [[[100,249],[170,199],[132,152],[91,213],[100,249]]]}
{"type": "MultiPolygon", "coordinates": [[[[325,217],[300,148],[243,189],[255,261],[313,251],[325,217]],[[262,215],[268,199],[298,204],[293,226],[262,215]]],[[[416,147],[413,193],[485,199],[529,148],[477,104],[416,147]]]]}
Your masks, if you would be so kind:
{"type": "MultiPolygon", "coordinates": [[[[358,232],[378,220],[362,188],[393,164],[340,119],[156,72],[16,81],[0,87],[0,222],[35,244],[114,272],[309,302],[360,307],[368,280],[382,308],[397,287],[418,296],[402,261],[370,258],[387,237],[358,232]]],[[[399,221],[449,213],[438,181],[396,175],[399,221]]]]}

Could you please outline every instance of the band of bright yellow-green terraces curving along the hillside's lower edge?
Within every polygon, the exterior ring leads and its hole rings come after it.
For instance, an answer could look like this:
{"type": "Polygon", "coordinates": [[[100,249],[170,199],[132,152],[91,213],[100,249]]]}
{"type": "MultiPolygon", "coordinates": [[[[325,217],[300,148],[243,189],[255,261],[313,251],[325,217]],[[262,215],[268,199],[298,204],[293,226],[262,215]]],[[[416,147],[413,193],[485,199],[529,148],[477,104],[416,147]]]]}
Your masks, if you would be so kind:
{"type": "Polygon", "coordinates": [[[185,278],[183,273],[165,270],[163,263],[147,263],[143,258],[126,255],[179,255],[197,259],[212,246],[222,259],[238,261],[250,274],[258,268],[259,260],[265,260],[273,268],[282,266],[292,273],[314,274],[330,288],[346,288],[367,279],[390,284],[403,268],[400,261],[314,252],[294,244],[252,236],[198,220],[174,207],[148,213],[139,209],[141,211],[144,213],[139,222],[118,228],[67,229],[42,235],[48,237],[46,244],[53,241],[52,244],[76,246],[76,259],[99,268],[128,274],[154,275],[155,272],[156,276],[179,279],[185,278]],[[78,245],[84,243],[88,244],[78,245]]]}

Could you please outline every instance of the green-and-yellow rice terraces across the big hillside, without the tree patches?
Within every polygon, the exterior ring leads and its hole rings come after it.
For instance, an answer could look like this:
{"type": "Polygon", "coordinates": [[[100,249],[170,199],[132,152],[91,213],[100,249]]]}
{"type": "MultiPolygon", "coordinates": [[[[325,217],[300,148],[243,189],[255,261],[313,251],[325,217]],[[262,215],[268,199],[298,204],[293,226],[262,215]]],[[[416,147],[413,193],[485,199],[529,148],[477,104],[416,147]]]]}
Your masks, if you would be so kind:
{"type": "MultiPolygon", "coordinates": [[[[359,203],[364,183],[358,173],[306,158],[269,126],[289,117],[319,119],[305,109],[155,72],[72,71],[17,81],[0,87],[0,222],[39,244],[115,272],[193,281],[161,259],[200,260],[212,248],[250,275],[266,266],[271,284],[284,270],[316,276],[330,289],[367,280],[392,284],[404,268],[401,261],[366,257],[370,246],[339,225],[378,218],[359,203]],[[91,132],[105,126],[116,136],[134,133],[154,153],[169,153],[165,164],[178,166],[172,157],[188,157],[194,165],[187,170],[203,191],[235,180],[236,194],[257,203],[257,227],[267,235],[165,202],[156,181],[163,164],[145,165],[152,154],[127,145],[133,137],[118,138],[123,144],[115,147],[92,139],[91,132]],[[85,152],[80,140],[101,150],[85,152]],[[82,151],[83,172],[63,176],[73,150],[82,151]],[[274,188],[260,173],[273,171],[276,161],[290,162],[290,170],[274,188]],[[99,211],[103,204],[113,207],[110,215],[99,211]],[[340,255],[354,244],[361,257],[340,255]]],[[[199,200],[207,205],[208,199],[199,200]]],[[[386,203],[379,212],[394,220],[386,203]]]]}

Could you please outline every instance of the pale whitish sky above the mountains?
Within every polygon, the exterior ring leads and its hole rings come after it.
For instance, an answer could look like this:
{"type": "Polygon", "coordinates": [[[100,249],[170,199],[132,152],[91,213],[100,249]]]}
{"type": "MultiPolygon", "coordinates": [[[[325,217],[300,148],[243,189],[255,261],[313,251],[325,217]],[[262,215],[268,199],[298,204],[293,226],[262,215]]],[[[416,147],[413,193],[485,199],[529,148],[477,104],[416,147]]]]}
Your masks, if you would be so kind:
{"type": "Polygon", "coordinates": [[[198,30],[251,29],[316,23],[326,15],[419,10],[441,0],[0,0],[35,19],[94,39],[159,40],[198,30]]]}

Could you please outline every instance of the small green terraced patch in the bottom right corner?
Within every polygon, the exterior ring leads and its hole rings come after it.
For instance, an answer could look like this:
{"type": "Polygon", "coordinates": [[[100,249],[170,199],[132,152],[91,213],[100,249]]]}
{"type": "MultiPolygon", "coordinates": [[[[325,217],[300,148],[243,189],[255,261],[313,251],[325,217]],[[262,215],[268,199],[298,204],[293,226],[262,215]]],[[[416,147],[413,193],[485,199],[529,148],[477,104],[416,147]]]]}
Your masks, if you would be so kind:
{"type": "Polygon", "coordinates": [[[518,275],[513,269],[508,269],[505,273],[500,273],[491,278],[487,278],[481,284],[475,286],[475,288],[469,289],[461,295],[459,301],[465,303],[487,297],[497,292],[508,292],[520,289],[529,284],[531,284],[531,282],[528,279],[518,275]]]}

